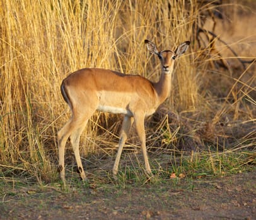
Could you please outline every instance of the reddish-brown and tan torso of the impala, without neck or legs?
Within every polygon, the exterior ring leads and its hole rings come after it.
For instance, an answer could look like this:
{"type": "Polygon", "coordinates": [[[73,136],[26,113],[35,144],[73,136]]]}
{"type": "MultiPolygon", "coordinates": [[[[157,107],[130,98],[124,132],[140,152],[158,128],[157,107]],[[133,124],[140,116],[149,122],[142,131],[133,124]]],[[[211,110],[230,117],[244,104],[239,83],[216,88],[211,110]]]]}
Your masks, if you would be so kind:
{"type": "Polygon", "coordinates": [[[150,111],[156,106],[156,91],[148,79],[112,70],[78,70],[63,80],[61,91],[72,110],[86,105],[91,110],[132,116],[139,106],[150,111]]]}

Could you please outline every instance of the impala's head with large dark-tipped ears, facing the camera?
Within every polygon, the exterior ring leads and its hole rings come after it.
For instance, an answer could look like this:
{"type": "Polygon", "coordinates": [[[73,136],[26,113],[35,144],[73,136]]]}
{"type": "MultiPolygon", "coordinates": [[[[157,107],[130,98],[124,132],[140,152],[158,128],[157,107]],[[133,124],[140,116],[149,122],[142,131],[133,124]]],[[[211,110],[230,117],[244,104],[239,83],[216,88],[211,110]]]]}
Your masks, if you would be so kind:
{"type": "Polygon", "coordinates": [[[149,52],[158,55],[158,58],[160,58],[161,67],[163,72],[165,74],[170,74],[173,70],[173,63],[174,60],[186,52],[187,48],[189,47],[190,41],[185,41],[182,43],[178,48],[175,50],[175,52],[172,52],[172,50],[158,50],[156,45],[152,43],[149,40],[145,40],[145,43],[148,47],[149,52]]]}

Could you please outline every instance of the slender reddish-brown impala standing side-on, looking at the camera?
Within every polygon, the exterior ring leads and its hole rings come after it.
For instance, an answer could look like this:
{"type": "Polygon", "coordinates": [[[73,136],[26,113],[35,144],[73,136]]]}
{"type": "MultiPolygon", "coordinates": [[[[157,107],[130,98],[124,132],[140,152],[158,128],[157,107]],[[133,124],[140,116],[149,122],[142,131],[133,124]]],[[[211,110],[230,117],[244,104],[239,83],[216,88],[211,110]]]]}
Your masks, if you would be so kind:
{"type": "Polygon", "coordinates": [[[96,110],[124,114],[113,175],[117,174],[122,148],[134,121],[141,141],[146,172],[151,174],[146,151],[144,119],[153,114],[169,96],[175,59],[185,53],[190,41],[182,43],[175,52],[160,51],[149,40],[145,40],[145,43],[149,52],[160,58],[161,77],[158,82],[151,82],[141,75],[128,75],[96,68],[78,70],[62,81],[61,94],[72,112],[69,121],[57,134],[59,172],[63,182],[65,182],[64,148],[68,138],[73,147],[78,173],[82,180],[86,179],[79,155],[79,138],[88,119],[96,110]]]}

